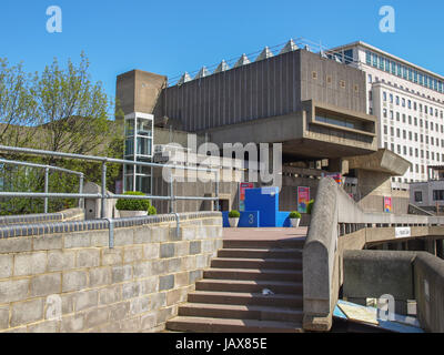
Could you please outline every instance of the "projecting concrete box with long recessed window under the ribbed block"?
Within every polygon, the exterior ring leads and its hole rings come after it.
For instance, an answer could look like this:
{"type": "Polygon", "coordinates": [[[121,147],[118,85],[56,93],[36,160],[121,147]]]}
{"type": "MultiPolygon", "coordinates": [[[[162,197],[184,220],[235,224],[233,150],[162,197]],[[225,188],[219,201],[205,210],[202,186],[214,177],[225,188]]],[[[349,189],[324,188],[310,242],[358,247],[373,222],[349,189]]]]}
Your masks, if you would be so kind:
{"type": "MultiPolygon", "coordinates": [[[[303,101],[301,110],[285,115],[249,120],[209,129],[211,141],[223,143],[283,143],[283,153],[294,158],[335,159],[377,151],[376,118],[362,112],[303,101]],[[363,129],[320,122],[316,113],[362,123],[363,129]]],[[[201,132],[203,133],[203,132],[201,132]]]]}

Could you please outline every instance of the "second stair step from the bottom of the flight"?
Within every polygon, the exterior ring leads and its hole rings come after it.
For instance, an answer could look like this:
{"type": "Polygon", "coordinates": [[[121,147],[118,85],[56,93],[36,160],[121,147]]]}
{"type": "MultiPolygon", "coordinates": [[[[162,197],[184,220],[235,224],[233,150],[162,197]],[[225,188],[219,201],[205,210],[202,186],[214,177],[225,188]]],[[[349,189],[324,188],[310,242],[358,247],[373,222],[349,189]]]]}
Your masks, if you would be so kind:
{"type": "Polygon", "coordinates": [[[179,316],[302,322],[302,310],[256,305],[188,303],[179,307],[179,316]]]}

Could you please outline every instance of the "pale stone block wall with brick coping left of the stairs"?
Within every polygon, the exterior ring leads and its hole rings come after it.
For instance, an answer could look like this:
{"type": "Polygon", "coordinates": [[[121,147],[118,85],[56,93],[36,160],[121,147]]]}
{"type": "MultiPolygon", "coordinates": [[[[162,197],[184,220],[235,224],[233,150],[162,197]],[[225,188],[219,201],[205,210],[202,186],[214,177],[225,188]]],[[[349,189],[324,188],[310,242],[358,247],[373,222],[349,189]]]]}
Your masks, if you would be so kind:
{"type": "Polygon", "coordinates": [[[162,331],[222,247],[220,213],[180,220],[117,220],[114,248],[107,221],[0,237],[0,332],[162,331]]]}

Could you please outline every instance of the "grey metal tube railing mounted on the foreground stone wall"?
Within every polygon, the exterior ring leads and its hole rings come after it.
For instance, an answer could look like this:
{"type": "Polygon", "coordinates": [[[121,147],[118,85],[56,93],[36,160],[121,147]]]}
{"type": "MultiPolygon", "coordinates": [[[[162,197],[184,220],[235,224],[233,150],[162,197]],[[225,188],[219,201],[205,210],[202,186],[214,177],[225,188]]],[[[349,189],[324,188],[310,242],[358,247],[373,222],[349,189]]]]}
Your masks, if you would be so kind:
{"type": "MultiPolygon", "coordinates": [[[[174,202],[179,200],[194,200],[194,201],[218,201],[219,200],[219,170],[209,168],[198,168],[198,166],[184,166],[184,165],[170,165],[170,164],[159,164],[139,161],[129,161],[122,159],[113,159],[105,156],[93,156],[93,155],[81,155],[63,152],[52,152],[44,150],[36,150],[30,148],[17,148],[17,146],[6,146],[0,145],[0,151],[11,152],[11,153],[22,153],[30,155],[43,155],[43,156],[54,156],[61,159],[75,159],[82,161],[101,162],[102,163],[102,176],[101,176],[101,193],[88,194],[80,191],[79,193],[50,193],[46,192],[0,192],[0,197],[29,197],[29,199],[101,199],[101,219],[107,219],[105,215],[105,201],[107,199],[133,199],[133,200],[161,200],[170,201],[170,213],[174,213],[174,202]],[[202,197],[202,196],[176,196],[174,195],[173,179],[170,171],[170,195],[169,196],[158,196],[158,195],[124,195],[124,194],[112,194],[107,193],[107,163],[113,164],[127,164],[135,166],[150,166],[150,168],[162,168],[171,170],[193,170],[193,171],[204,171],[206,173],[214,173],[215,192],[214,197],[202,197]]],[[[28,163],[27,163],[28,164],[28,163]]],[[[49,168],[49,166],[48,166],[49,168]]],[[[52,166],[56,168],[56,166],[52,166]]],[[[57,168],[62,170],[62,168],[57,168]]],[[[64,169],[63,169],[64,170],[64,169]]],[[[67,170],[64,170],[67,171],[67,170]]],[[[81,183],[83,189],[83,181],[81,183]]],[[[214,211],[218,211],[218,203],[214,203],[214,211]]],[[[179,223],[179,221],[178,221],[179,223]]]]}

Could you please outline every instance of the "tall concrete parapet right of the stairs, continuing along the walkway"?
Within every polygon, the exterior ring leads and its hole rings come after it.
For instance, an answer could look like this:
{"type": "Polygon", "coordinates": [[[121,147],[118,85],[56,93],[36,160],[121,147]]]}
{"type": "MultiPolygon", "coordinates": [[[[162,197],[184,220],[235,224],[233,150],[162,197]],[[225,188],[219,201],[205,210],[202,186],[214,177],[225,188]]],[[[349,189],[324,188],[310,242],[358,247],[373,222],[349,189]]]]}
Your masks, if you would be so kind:
{"type": "Polygon", "coordinates": [[[331,178],[321,180],[303,251],[305,329],[331,328],[344,251],[396,240],[401,226],[410,227],[411,237],[444,235],[444,217],[366,213],[331,178]]]}

